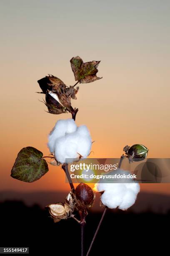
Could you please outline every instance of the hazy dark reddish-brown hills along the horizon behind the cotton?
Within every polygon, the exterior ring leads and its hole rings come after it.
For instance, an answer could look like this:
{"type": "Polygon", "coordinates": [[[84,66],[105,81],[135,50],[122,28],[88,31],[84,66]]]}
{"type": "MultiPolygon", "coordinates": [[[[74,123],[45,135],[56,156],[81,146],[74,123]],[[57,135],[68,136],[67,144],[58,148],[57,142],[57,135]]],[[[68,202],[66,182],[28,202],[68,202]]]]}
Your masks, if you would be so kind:
{"type": "MultiPolygon", "coordinates": [[[[61,191],[0,191],[0,202],[5,200],[23,201],[27,206],[34,204],[40,205],[44,208],[46,205],[54,202],[64,202],[68,192],[61,191]]],[[[146,212],[148,208],[154,213],[167,213],[170,209],[170,195],[140,192],[138,194],[135,204],[130,207],[130,210],[136,213],[146,212]]],[[[100,193],[96,193],[95,203],[92,211],[100,211],[100,193]]]]}

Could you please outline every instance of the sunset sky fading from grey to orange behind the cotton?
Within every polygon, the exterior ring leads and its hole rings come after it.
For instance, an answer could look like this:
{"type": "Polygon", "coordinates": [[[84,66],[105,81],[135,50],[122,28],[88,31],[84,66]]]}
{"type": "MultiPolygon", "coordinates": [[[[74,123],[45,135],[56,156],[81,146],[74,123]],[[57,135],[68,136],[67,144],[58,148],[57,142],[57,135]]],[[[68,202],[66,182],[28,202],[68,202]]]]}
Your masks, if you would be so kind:
{"type": "MultiPolygon", "coordinates": [[[[80,84],[77,125],[95,143],[91,157],[121,156],[125,145],[144,144],[148,157],[170,157],[170,1],[1,0],[0,190],[68,190],[53,166],[35,183],[10,177],[21,148],[44,155],[47,134],[70,114],[46,113],[37,80],[53,74],[75,84],[70,59],[101,60],[98,76],[80,84]]],[[[141,189],[170,194],[170,184],[141,189]]]]}

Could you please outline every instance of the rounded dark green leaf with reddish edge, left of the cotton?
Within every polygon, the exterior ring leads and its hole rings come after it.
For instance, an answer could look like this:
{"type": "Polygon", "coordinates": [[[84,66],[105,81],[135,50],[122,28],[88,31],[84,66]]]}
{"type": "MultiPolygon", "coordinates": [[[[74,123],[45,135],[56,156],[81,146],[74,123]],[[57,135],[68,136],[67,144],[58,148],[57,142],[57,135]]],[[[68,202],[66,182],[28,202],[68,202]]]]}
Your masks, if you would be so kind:
{"type": "Polygon", "coordinates": [[[34,182],[48,172],[42,152],[33,147],[22,148],[15,160],[11,177],[24,182],[34,182]]]}

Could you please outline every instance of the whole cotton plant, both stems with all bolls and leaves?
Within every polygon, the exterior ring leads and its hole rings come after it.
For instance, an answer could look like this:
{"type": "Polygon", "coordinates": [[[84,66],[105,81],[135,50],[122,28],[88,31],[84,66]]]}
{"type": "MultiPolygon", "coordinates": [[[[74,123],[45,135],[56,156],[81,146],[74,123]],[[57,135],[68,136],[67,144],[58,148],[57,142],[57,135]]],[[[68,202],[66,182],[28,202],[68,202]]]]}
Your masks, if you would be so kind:
{"type": "MultiPolygon", "coordinates": [[[[76,188],[74,187],[68,164],[89,156],[92,148],[92,138],[86,125],[77,126],[75,123],[78,108],[72,107],[72,100],[77,99],[79,87],[75,88],[75,86],[78,83],[95,82],[102,78],[96,75],[99,63],[100,61],[84,63],[79,56],[73,57],[70,60],[70,64],[75,81],[77,81],[73,86],[67,86],[61,79],[51,74],[37,81],[41,89],[41,92],[38,93],[45,96],[43,102],[47,107],[47,112],[53,115],[70,113],[72,118],[57,120],[54,128],[50,131],[47,141],[50,153],[48,156],[43,156],[41,151],[31,146],[22,148],[11,170],[11,177],[14,179],[23,182],[35,182],[49,171],[48,163],[54,166],[61,166],[67,176],[71,190],[63,199],[63,202],[54,202],[46,207],[54,223],[73,218],[80,224],[81,256],[84,255],[83,234],[86,216],[95,201],[95,192],[85,183],[80,183],[76,188]],[[46,158],[50,159],[50,161],[47,161],[46,158]]],[[[133,161],[145,159],[148,154],[148,149],[141,144],[135,144],[132,147],[125,146],[123,150],[125,155],[121,156],[117,170],[117,172],[121,173],[125,172],[120,169],[124,158],[128,158],[130,163],[133,163],[133,161]]],[[[96,236],[106,210],[108,208],[127,210],[135,203],[140,186],[133,180],[123,183],[102,183],[99,181],[95,184],[95,191],[100,193],[100,205],[105,207],[95,232],[96,236]]],[[[86,255],[90,252],[95,236],[86,255]]]]}

